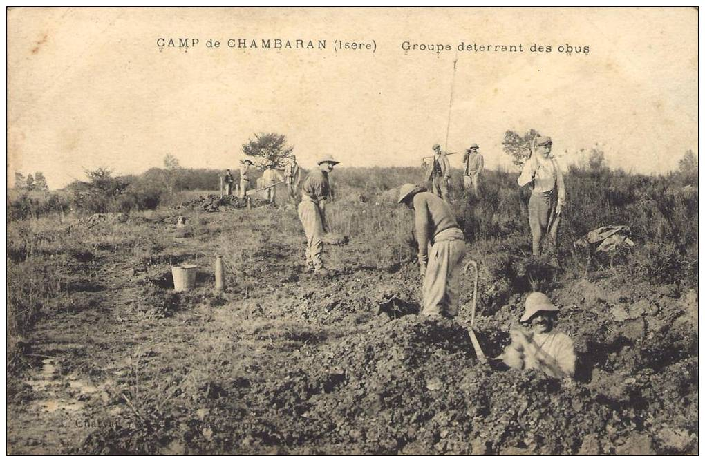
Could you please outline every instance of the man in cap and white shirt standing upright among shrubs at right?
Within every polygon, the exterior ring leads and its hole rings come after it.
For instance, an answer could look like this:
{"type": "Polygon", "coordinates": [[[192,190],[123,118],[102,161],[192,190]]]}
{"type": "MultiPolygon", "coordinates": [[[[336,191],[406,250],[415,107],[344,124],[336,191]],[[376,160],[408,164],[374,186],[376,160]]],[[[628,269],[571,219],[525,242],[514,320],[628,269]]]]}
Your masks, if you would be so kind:
{"type": "Polygon", "coordinates": [[[532,253],[539,256],[541,245],[546,243],[546,250],[558,261],[556,240],[560,216],[565,205],[565,185],[563,173],[560,172],[556,159],[551,157],[551,138],[539,137],[537,150],[524,164],[517,179],[521,186],[532,188],[529,198],[529,228],[532,235],[532,253]]]}

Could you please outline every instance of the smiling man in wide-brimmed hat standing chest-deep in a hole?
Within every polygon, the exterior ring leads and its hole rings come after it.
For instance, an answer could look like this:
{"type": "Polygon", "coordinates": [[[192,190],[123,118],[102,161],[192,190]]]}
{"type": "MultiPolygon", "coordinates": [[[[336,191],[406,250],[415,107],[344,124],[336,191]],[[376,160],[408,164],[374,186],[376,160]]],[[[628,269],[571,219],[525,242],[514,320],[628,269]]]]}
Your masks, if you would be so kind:
{"type": "Polygon", "coordinates": [[[558,307],[544,293],[532,292],[520,319],[531,330],[513,326],[512,343],[501,356],[504,364],[515,369],[539,369],[553,377],[572,377],[575,350],[570,337],[556,331],[557,321],[558,307]]]}

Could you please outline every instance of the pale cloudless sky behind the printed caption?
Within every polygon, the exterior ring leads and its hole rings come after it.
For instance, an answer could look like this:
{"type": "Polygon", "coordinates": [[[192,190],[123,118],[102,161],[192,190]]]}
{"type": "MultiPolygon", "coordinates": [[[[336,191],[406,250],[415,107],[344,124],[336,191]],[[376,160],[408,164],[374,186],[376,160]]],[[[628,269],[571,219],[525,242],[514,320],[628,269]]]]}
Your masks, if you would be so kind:
{"type": "Polygon", "coordinates": [[[237,168],[260,132],[286,135],[305,167],[323,154],[417,166],[436,142],[477,142],[486,167],[510,167],[505,131],[530,128],[564,164],[595,144],[639,173],[697,154],[694,8],[13,8],[7,30],[10,186],[16,171],[41,171],[51,188],[98,166],[141,173],[166,154],[237,168]],[[157,46],[179,37],[199,43],[157,46]],[[326,49],[228,47],[238,38],[326,49]],[[336,39],[376,49],[335,51],[336,39]]]}

